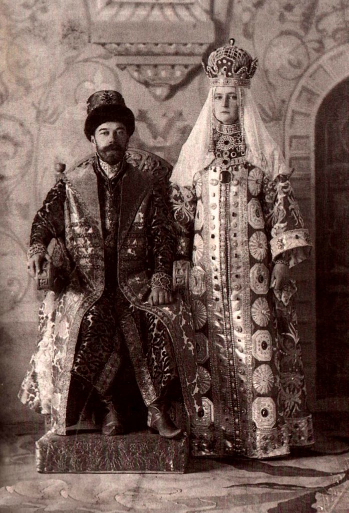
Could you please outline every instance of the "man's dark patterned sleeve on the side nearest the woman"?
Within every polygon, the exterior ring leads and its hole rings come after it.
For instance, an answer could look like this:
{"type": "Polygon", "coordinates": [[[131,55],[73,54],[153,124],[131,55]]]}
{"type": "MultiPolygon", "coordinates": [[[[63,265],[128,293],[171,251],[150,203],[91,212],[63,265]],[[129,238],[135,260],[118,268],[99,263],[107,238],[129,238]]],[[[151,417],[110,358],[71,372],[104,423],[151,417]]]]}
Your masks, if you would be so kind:
{"type": "MultiPolygon", "coordinates": [[[[168,184],[159,182],[154,185],[151,202],[152,215],[148,225],[148,236],[154,259],[152,284],[155,286],[157,279],[160,279],[163,273],[172,279],[175,233],[170,211],[168,184]]],[[[158,285],[161,286],[160,282],[158,285]]]]}

